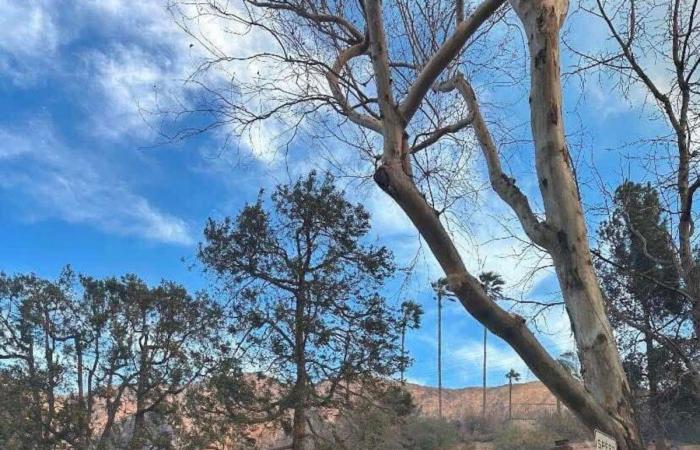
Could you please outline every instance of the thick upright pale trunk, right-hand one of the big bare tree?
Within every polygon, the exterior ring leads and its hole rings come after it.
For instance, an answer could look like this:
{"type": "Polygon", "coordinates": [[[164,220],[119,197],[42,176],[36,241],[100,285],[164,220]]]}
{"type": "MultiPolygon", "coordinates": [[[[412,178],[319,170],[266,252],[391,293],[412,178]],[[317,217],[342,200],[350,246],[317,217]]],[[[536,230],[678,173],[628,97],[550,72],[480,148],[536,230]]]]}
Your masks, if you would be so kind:
{"type": "Polygon", "coordinates": [[[642,448],[632,395],[622,368],[600,285],[564,137],[559,31],[566,0],[512,0],[530,50],[530,113],[535,164],[547,225],[556,233],[550,254],[576,340],[586,388],[610,414],[622,448],[642,448]]]}

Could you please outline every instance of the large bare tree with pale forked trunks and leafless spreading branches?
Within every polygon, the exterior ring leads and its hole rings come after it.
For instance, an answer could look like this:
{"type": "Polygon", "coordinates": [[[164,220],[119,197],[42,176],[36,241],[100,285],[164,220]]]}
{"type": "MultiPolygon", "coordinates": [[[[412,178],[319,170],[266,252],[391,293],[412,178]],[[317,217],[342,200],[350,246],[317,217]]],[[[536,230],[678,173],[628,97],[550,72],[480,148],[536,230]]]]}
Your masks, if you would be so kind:
{"type": "MultiPolygon", "coordinates": [[[[326,145],[357,149],[374,162],[376,184],[415,225],[464,308],[507,341],[584,423],[614,435],[622,449],[640,449],[565,137],[560,30],[568,6],[566,0],[466,5],[459,0],[200,0],[175,5],[173,12],[212,52],[202,71],[226,67],[233,74],[228,88],[209,85],[205,103],[192,113],[214,117],[207,127],[237,132],[270,118],[286,125],[303,122],[299,128],[314,130],[310,134],[337,138],[326,145]],[[226,54],[195,28],[208,17],[228,21],[224,31],[233,33],[231,39],[252,30],[269,45],[226,54]],[[529,50],[534,155],[529,181],[539,187],[536,202],[503,168],[496,135],[471,82],[476,72],[496,80],[517,70],[508,65],[513,28],[526,37],[529,50]],[[446,227],[445,211],[461,195],[450,188],[476,177],[464,164],[470,143],[483,153],[493,191],[553,262],[583,384],[549,355],[522,318],[487,295],[446,227]],[[435,194],[438,186],[444,195],[435,194]],[[536,211],[533,205],[540,203],[543,208],[536,211]]],[[[195,79],[205,85],[209,80],[195,79]]]]}

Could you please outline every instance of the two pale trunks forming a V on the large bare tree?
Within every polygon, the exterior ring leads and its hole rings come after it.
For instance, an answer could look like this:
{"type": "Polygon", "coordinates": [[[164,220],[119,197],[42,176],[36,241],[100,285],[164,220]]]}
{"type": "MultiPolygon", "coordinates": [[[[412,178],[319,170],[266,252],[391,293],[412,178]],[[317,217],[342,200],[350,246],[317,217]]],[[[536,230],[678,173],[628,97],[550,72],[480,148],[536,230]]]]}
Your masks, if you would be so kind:
{"type": "Polygon", "coordinates": [[[643,447],[631,407],[630,390],[593,271],[585,221],[564,141],[558,39],[567,5],[550,0],[513,2],[513,6],[525,24],[530,42],[532,128],[547,221],[538,222],[529,206],[523,204],[526,199],[512,182],[501,179],[496,183],[501,183],[503,190],[499,195],[514,208],[528,235],[552,254],[574,328],[586,386],[547,353],[524,319],[503,310],[489,298],[479,281],[466,270],[452,236],[417,189],[408,163],[410,149],[405,116],[400,114],[391,88],[380,2],[367,0],[369,51],[376,75],[384,143],[382,164],[375,171],[374,180],[412,221],[447,275],[450,290],[464,308],[508,342],[533,374],[582,422],[614,435],[621,450],[640,450],[643,447]]]}

